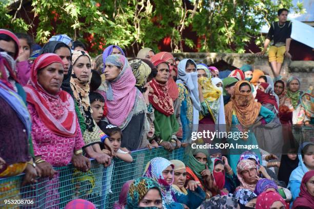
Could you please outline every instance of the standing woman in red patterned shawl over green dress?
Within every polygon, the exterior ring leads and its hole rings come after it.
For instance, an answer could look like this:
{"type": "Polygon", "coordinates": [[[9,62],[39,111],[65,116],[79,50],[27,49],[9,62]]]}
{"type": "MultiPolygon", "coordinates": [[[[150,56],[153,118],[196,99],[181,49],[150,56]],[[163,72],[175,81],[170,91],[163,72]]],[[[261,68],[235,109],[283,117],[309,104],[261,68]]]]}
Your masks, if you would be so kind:
{"type": "Polygon", "coordinates": [[[155,77],[148,82],[148,99],[154,108],[155,116],[154,135],[158,138],[157,142],[166,150],[173,150],[174,148],[180,148],[181,142],[175,136],[179,130],[179,124],[175,118],[173,101],[168,94],[169,65],[163,59],[153,57],[152,60],[158,70],[155,77]]]}

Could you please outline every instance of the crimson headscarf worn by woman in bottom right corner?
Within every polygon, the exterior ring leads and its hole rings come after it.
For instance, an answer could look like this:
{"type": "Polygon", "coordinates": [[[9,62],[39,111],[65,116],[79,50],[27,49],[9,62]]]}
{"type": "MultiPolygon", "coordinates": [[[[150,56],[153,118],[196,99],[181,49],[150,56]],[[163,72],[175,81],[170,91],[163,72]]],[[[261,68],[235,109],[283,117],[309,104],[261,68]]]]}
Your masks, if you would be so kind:
{"type": "Polygon", "coordinates": [[[302,178],[302,183],[300,186],[300,194],[299,197],[297,197],[297,199],[293,202],[292,205],[292,209],[295,209],[299,206],[303,206],[303,207],[309,207],[312,208],[314,205],[314,197],[311,196],[305,187],[306,182],[308,182],[308,180],[310,178],[312,178],[314,176],[314,171],[308,171],[304,174],[303,178],[302,178]]]}

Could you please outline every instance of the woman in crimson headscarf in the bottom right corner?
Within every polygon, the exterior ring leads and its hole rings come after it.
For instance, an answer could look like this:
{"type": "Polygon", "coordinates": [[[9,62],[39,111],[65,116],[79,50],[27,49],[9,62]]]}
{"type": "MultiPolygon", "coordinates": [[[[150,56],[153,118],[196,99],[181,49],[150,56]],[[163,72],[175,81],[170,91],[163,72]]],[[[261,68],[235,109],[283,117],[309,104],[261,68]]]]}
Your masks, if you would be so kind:
{"type": "Polygon", "coordinates": [[[299,197],[293,202],[292,209],[310,209],[314,205],[314,171],[308,171],[302,178],[299,197]]]}

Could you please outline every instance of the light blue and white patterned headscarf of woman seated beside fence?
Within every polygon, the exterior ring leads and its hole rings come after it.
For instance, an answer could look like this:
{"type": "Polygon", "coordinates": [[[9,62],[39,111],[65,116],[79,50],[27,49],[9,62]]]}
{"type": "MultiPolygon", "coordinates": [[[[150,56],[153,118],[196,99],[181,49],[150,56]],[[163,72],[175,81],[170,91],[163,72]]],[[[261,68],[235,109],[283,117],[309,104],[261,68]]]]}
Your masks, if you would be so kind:
{"type": "MultiPolygon", "coordinates": [[[[174,175],[172,175],[172,182],[169,184],[163,177],[163,171],[171,165],[171,162],[162,157],[155,157],[150,160],[148,168],[144,173],[144,177],[148,177],[156,181],[161,188],[162,198],[163,198],[163,205],[171,204],[175,202],[174,194],[171,191],[171,185],[174,181],[174,175]]],[[[166,207],[165,207],[166,208],[166,207]]]]}

